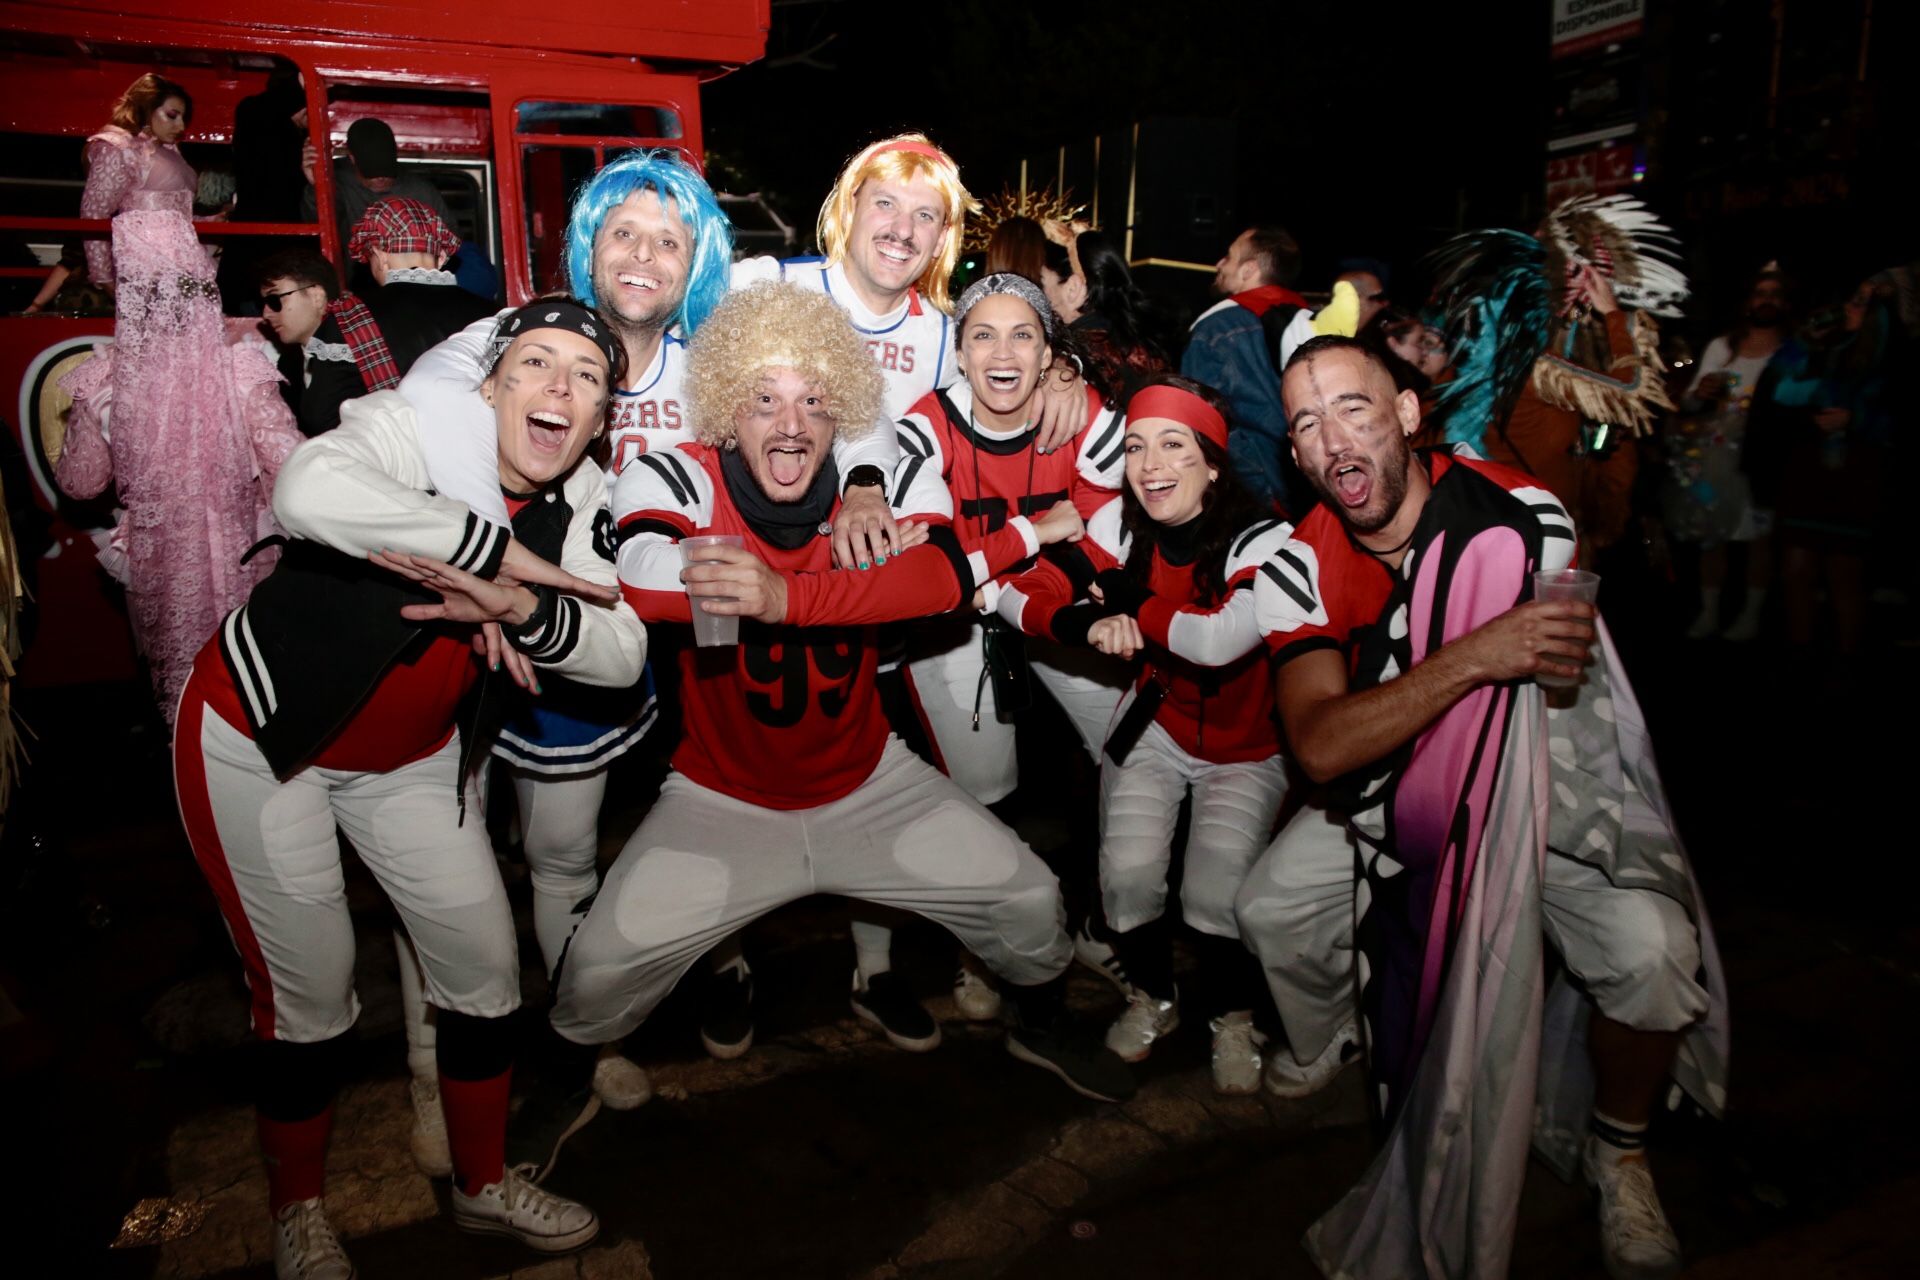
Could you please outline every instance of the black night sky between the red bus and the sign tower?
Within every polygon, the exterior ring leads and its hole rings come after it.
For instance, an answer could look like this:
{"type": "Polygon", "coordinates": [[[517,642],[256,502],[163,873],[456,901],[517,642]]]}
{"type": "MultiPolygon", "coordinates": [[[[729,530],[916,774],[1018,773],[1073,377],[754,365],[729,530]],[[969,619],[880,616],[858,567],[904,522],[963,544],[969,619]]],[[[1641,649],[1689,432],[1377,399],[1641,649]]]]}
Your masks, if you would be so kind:
{"type": "Polygon", "coordinates": [[[1175,161],[1142,180],[1225,180],[1233,217],[1290,226],[1306,282],[1325,284],[1340,255],[1411,265],[1455,225],[1538,217],[1546,44],[1544,0],[776,0],[768,59],[705,92],[707,146],[810,230],[841,161],[902,129],[993,194],[1021,154],[1142,117],[1225,119],[1233,173],[1175,161]],[[828,36],[812,59],[831,69],[783,63],[828,36]]]}

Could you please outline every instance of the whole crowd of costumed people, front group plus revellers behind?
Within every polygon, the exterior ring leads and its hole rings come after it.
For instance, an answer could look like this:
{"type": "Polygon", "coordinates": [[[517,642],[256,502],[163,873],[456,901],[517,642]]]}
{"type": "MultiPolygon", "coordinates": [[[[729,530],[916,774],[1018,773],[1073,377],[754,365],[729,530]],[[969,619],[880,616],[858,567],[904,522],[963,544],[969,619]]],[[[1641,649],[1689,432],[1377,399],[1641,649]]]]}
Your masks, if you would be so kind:
{"type": "Polygon", "coordinates": [[[100,562],[267,1048],[282,1276],[351,1274],[323,1201],[357,1011],[336,823],[403,925],[413,1153],[468,1230],[591,1240],[545,1174],[595,1107],[647,1102],[622,1038],[695,971],[708,1052],[749,1052],[747,931],[839,892],[851,1007],[902,1050],[939,1023],[893,969],[899,910],[958,938],[962,1015],[1089,1098],[1127,1098],[1183,1015],[1229,1094],[1365,1059],[1382,1153],[1308,1240],[1329,1274],[1501,1270],[1530,1138],[1601,1190],[1613,1274],[1678,1268],[1645,1132],[1668,1079],[1724,1102],[1724,990],[1626,672],[1536,576],[1684,553],[1674,643],[1772,635],[1859,679],[1874,591],[1907,585],[1874,549],[1908,269],[1822,292],[1755,263],[1692,359],[1638,201],[1321,280],[1263,221],[1181,334],[1104,228],[1008,217],[956,278],[977,205],[902,134],[785,263],[733,261],[682,159],[614,159],[566,294],[501,311],[392,129],[357,119],[332,159],[303,117],[286,77],[242,104],[223,215],[313,221],[332,163],[349,263],[211,261],[192,96],[148,75],[86,144],[111,240],[33,305],[83,271],[113,301],[58,480],[117,491],[100,562]],[[707,618],[732,649],[689,641],[707,618]],[[1083,754],[1020,758],[1035,699],[1083,754]],[[601,879],[607,768],[659,704],[674,771],[601,879]],[[507,1031],[511,913],[465,821],[490,754],[555,988],[538,1046],[507,1031]],[[1012,827],[1062,783],[1079,865],[1012,827]],[[1098,1027],[1068,1011],[1075,958],[1123,994],[1098,1027]],[[1578,1040],[1542,1032],[1555,1000],[1586,1002],[1578,1040]]]}

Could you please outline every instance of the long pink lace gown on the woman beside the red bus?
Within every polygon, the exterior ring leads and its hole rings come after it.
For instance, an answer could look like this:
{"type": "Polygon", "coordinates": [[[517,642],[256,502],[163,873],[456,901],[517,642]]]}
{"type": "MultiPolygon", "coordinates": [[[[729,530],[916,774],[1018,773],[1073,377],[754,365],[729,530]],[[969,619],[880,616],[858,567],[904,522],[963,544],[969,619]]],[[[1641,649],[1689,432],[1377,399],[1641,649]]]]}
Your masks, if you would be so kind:
{"type": "Polygon", "coordinates": [[[127,514],[102,564],[127,583],[171,725],[194,654],[273,566],[240,557],[273,532],[273,480],[301,438],[265,342],[228,342],[192,167],[113,127],[86,159],[81,217],[113,219],[111,253],[86,244],[88,271],[117,284],[117,319],[113,344],[61,380],[73,415],[56,476],[71,497],[119,489],[127,514]]]}

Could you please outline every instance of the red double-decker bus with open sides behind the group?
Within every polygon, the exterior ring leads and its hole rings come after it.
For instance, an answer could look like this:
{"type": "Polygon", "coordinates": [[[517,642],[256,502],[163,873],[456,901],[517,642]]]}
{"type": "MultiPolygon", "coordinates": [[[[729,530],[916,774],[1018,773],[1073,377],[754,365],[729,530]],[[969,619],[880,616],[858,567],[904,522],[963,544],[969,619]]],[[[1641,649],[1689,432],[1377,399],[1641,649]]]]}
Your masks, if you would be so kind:
{"type": "MultiPolygon", "coordinates": [[[[0,416],[25,459],[8,503],[33,503],[46,535],[29,566],[38,629],[29,683],[134,674],[131,641],[88,528],[98,507],[54,487],[67,405],[56,380],[111,338],[111,313],[21,315],[77,240],[106,221],[75,217],[83,146],[138,75],[194,96],[182,154],[202,173],[232,148],[234,107],[276,65],[298,67],[319,155],[340,155],[353,121],[376,117],[401,167],[430,178],[455,230],[495,263],[503,301],[563,278],[570,196],[609,157],[670,146],[701,161],[703,81],[762,56],[770,0],[0,0],[0,416]],[[25,489],[25,491],[21,491],[25,489]]],[[[332,171],[313,171],[332,207],[332,171]]],[[[334,219],[200,223],[204,240],[309,236],[342,265],[334,219]]]]}

